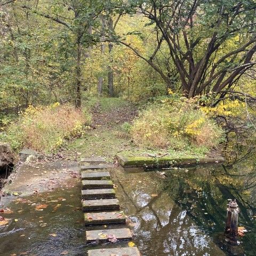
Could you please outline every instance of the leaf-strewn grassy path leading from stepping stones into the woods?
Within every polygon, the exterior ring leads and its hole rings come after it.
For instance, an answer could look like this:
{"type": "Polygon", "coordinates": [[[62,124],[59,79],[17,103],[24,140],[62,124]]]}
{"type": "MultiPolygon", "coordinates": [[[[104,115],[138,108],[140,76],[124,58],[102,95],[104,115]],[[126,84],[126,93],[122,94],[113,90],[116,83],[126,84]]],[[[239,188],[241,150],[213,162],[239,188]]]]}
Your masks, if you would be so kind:
{"type": "Polygon", "coordinates": [[[103,156],[112,162],[118,152],[134,147],[122,125],[132,122],[136,115],[137,108],[130,102],[115,98],[99,100],[92,109],[91,129],[68,143],[62,153],[71,156],[70,159],[103,156]]]}

